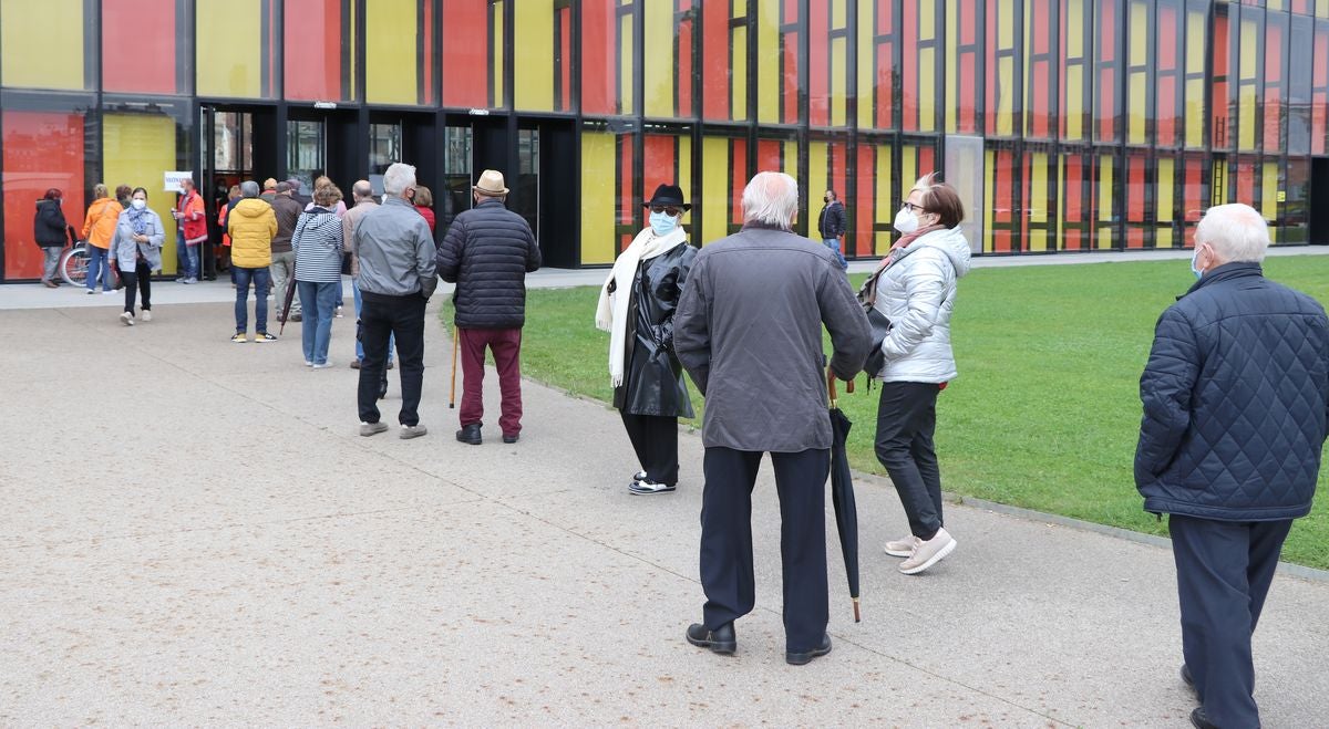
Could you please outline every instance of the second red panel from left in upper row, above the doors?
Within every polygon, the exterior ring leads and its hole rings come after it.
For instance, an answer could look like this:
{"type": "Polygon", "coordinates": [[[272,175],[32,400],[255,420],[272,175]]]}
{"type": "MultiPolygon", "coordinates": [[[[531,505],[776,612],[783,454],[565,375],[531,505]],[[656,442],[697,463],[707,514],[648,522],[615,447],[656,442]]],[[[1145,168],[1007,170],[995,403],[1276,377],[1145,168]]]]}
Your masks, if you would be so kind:
{"type": "Polygon", "coordinates": [[[340,0],[288,0],[286,4],[286,98],[342,98],[340,0]]]}

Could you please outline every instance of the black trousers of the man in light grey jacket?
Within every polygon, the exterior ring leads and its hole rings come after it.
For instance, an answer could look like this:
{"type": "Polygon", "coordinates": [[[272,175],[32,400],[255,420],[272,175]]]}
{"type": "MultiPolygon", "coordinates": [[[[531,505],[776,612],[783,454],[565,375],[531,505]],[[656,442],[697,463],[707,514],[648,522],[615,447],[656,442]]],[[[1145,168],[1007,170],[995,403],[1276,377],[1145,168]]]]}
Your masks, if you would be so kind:
{"type": "Polygon", "coordinates": [[[360,328],[356,333],[364,347],[360,360],[358,401],[361,422],[379,422],[379,382],[388,361],[388,337],[397,340],[397,372],[401,377],[401,412],[397,422],[420,425],[420,389],[424,386],[424,305],[419,293],[385,296],[361,293],[360,328]]]}

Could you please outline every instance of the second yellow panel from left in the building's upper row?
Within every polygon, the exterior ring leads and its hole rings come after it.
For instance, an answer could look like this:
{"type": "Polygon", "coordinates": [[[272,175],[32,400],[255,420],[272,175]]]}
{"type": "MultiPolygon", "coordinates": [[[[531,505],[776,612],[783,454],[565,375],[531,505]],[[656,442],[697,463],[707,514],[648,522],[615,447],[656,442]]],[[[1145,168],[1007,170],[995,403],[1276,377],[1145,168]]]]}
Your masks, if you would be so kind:
{"type": "Polygon", "coordinates": [[[266,49],[260,0],[195,3],[194,27],[198,96],[262,97],[266,49]]]}

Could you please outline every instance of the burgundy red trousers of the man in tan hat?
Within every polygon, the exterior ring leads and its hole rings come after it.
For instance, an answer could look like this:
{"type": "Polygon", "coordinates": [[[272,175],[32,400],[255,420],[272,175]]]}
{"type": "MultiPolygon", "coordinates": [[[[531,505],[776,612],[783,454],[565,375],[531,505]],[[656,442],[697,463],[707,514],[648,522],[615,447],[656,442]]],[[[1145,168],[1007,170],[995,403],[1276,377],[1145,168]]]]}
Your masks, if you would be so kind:
{"type": "Polygon", "coordinates": [[[521,433],[521,329],[457,329],[461,359],[461,426],[480,422],[485,414],[485,348],[494,355],[498,389],[502,392],[498,428],[504,436],[521,433]]]}

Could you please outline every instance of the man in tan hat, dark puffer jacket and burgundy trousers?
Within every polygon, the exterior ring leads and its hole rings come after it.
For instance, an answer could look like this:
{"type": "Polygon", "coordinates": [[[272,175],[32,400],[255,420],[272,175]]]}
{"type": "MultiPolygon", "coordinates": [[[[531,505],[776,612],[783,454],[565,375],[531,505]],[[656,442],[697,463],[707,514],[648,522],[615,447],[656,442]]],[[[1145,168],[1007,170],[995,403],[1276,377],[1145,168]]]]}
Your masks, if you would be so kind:
{"type": "Polygon", "coordinates": [[[526,274],[540,268],[540,247],[526,219],[508,210],[502,173],[485,170],[472,186],[476,206],[460,215],[439,247],[439,275],[457,284],[457,343],[461,352],[461,430],[457,440],[480,445],[485,348],[494,356],[502,441],[521,436],[521,327],[526,323],[526,274]]]}

